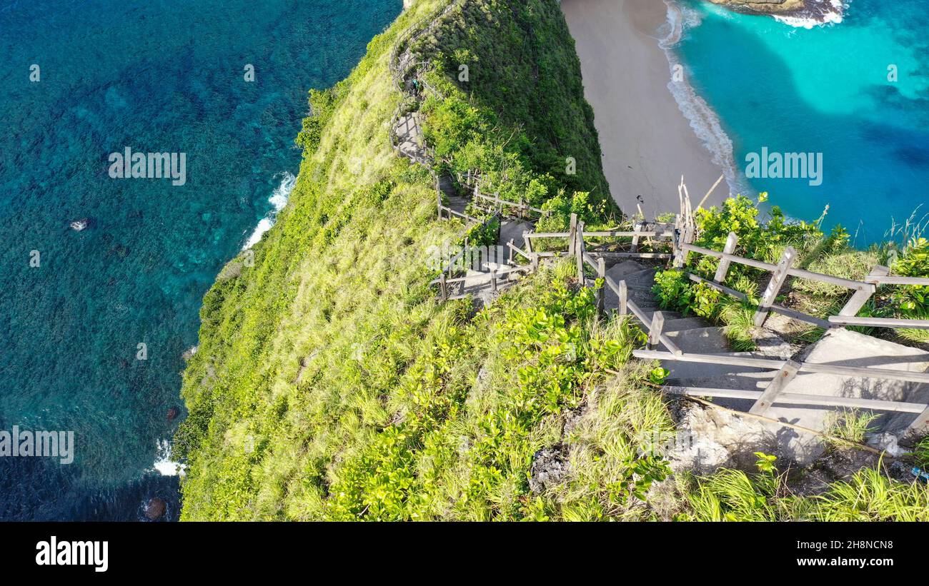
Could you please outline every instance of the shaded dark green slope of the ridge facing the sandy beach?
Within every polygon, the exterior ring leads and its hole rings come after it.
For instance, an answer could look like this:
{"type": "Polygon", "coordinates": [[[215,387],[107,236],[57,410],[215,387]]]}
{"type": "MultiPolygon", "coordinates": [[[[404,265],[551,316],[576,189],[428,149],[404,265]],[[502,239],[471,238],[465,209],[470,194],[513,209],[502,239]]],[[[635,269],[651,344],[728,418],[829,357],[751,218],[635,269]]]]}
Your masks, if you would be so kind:
{"type": "MultiPolygon", "coordinates": [[[[594,111],[583,97],[581,63],[556,2],[461,2],[417,39],[426,56],[486,108],[488,126],[568,192],[609,200],[594,111]],[[574,174],[566,159],[576,160],[574,174]]],[[[541,203],[541,201],[539,202],[541,203]]]]}

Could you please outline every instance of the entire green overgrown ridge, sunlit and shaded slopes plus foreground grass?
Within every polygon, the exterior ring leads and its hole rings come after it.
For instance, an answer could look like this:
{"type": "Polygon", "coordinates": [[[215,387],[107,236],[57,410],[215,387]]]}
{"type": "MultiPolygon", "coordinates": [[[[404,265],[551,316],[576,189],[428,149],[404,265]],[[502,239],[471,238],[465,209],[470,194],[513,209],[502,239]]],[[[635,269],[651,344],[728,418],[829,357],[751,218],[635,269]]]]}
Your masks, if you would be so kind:
{"type": "Polygon", "coordinates": [[[430,247],[464,226],[436,219],[433,177],[387,140],[404,100],[388,60],[415,23],[436,23],[415,45],[443,94],[422,104],[440,169],[477,168],[552,222],[615,211],[584,195],[603,175],[556,0],[465,0],[435,19],[448,5],[418,0],[312,93],[290,204],[205,296],[175,441],[182,518],[925,518],[925,490],[880,474],[813,499],[770,469],[669,476],[649,449],[673,427],[661,370],[631,359],[641,331],[598,320],[569,264],[477,315],[438,304],[430,247]],[[448,77],[461,60],[471,86],[448,77]],[[558,166],[566,145],[587,149],[577,175],[558,166]]]}

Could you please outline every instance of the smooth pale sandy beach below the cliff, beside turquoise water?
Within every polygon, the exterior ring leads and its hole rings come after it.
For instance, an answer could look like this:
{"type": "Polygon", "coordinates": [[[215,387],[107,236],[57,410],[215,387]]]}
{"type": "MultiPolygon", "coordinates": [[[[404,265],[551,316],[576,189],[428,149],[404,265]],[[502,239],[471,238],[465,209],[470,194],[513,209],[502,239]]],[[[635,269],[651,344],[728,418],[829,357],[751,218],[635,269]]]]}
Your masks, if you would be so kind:
{"type": "MultiPolygon", "coordinates": [[[[641,196],[650,218],[676,212],[683,174],[696,207],[722,169],[668,89],[671,70],[658,32],[667,6],[661,0],[562,0],[561,6],[581,57],[613,199],[634,213],[641,196]]],[[[724,180],[705,205],[728,192],[724,180]]]]}

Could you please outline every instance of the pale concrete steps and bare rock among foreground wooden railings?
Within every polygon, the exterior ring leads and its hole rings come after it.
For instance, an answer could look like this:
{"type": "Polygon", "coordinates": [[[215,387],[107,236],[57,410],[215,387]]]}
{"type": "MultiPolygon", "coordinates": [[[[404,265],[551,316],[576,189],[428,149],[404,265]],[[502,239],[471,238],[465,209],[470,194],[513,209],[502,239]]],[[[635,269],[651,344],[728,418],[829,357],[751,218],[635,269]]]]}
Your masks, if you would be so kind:
{"type": "MultiPolygon", "coordinates": [[[[625,281],[629,299],[650,320],[658,311],[657,301],[651,293],[656,270],[635,261],[621,261],[608,268],[607,274],[617,283],[625,281]]],[[[616,308],[619,299],[606,288],[606,307],[616,308]]],[[[846,329],[833,329],[803,352],[792,356],[792,349],[771,332],[765,334],[765,347],[752,352],[736,352],[728,347],[723,328],[711,325],[700,318],[684,317],[677,312],[663,312],[663,332],[685,354],[695,353],[720,357],[764,358],[797,362],[821,363],[837,366],[869,366],[872,368],[924,373],[929,370],[929,352],[902,346],[887,340],[872,338],[846,329]]],[[[645,325],[644,327],[648,327],[645,325]]],[[[660,348],[659,350],[664,350],[660,348]]],[[[763,391],[778,370],[736,366],[718,363],[693,363],[664,360],[661,365],[670,374],[665,391],[670,394],[692,393],[694,389],[732,389],[763,391]]],[[[926,402],[929,385],[887,380],[874,377],[838,376],[801,372],[783,389],[783,393],[874,399],[882,401],[926,402]]],[[[754,399],[715,398],[714,403],[748,412],[754,399]]],[[[800,427],[823,431],[828,427],[831,412],[836,407],[776,403],[765,412],[765,417],[800,427]]],[[[774,453],[779,457],[806,465],[825,451],[823,441],[812,433],[791,427],[766,423],[754,418],[726,416],[712,409],[696,410],[685,421],[678,422],[685,433],[698,437],[689,446],[677,446],[679,460],[684,467],[713,470],[720,465],[734,465],[739,461],[753,465],[752,452],[774,453]],[[748,454],[748,455],[746,455],[748,454]]],[[[880,418],[873,424],[876,431],[899,436],[915,419],[915,414],[875,411],[880,418]]]]}

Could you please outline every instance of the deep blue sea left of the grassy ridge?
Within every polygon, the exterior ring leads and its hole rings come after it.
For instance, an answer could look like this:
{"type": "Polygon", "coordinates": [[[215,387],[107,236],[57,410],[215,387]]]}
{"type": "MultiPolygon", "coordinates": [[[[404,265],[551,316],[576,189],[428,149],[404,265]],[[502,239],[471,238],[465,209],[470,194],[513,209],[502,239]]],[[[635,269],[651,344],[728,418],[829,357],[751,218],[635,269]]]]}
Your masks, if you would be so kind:
{"type": "Polygon", "coordinates": [[[401,6],[0,2],[0,430],[76,440],[72,465],[0,458],[0,519],[139,519],[150,496],[177,518],[177,477],[154,464],[203,293],[286,196],[307,90],[401,6]],[[124,147],[186,153],[186,184],[112,179],[124,147]]]}

